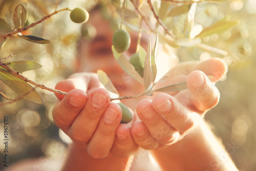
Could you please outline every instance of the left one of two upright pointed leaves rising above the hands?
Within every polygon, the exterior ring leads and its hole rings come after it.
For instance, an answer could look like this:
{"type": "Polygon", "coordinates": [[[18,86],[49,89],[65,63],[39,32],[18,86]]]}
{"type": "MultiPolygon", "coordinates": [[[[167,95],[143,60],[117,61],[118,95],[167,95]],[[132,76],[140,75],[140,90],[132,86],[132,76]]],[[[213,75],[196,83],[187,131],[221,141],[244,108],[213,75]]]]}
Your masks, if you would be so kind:
{"type": "Polygon", "coordinates": [[[151,41],[149,39],[146,58],[144,62],[144,88],[145,91],[150,87],[153,81],[153,74],[151,70],[151,41]]]}

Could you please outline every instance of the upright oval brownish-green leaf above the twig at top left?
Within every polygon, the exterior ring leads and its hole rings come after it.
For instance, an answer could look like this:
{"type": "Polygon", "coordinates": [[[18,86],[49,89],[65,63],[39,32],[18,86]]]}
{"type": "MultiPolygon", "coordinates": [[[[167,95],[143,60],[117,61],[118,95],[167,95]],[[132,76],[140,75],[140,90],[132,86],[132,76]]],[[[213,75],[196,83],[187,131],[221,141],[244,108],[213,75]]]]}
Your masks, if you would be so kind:
{"type": "Polygon", "coordinates": [[[28,14],[26,8],[21,4],[16,6],[13,13],[13,23],[17,30],[24,27],[27,18],[28,14]]]}

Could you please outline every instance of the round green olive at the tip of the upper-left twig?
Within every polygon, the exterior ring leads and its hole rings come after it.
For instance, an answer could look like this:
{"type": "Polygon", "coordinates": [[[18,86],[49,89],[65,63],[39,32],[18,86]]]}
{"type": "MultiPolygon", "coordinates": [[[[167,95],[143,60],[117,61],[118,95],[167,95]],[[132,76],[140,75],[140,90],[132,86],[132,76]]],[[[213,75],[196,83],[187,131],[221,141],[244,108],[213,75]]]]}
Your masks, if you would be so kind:
{"type": "Polygon", "coordinates": [[[89,13],[87,10],[75,8],[70,13],[70,19],[75,23],[85,23],[89,19],[89,13]]]}

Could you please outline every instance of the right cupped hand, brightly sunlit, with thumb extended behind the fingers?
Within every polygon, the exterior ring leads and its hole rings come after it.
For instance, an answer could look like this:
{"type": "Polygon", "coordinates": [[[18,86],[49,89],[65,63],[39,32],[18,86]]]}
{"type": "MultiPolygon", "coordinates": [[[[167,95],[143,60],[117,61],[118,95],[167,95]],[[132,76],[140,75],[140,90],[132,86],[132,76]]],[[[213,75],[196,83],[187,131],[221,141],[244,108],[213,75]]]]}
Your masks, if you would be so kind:
{"type": "Polygon", "coordinates": [[[226,72],[225,62],[218,58],[180,63],[170,70],[158,88],[187,81],[188,89],[141,100],[136,109],[140,121],[131,130],[135,142],[145,149],[158,149],[181,140],[200,116],[218,104],[220,93],[214,83],[226,72]]]}

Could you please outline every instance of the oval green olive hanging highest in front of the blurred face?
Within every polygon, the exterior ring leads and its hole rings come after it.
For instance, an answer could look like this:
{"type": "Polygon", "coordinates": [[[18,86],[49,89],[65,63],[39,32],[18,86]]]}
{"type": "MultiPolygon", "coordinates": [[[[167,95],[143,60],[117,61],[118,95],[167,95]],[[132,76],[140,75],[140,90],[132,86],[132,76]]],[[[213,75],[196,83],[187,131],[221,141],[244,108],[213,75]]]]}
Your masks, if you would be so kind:
{"type": "Polygon", "coordinates": [[[118,53],[129,49],[131,44],[130,34],[124,29],[117,29],[112,38],[113,45],[118,53]]]}

